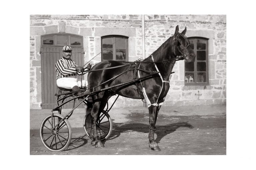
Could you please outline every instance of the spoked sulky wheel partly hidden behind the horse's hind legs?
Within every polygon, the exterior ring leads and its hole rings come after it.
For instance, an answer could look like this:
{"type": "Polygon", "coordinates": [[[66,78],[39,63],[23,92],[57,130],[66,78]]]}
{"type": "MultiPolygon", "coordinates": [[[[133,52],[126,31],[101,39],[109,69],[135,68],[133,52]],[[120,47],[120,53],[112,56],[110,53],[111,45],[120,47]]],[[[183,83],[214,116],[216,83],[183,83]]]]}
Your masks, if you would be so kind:
{"type": "MultiPolygon", "coordinates": [[[[97,133],[99,136],[99,140],[103,141],[106,140],[112,131],[112,120],[107,112],[102,112],[100,114],[99,119],[96,123],[97,126],[97,133]]],[[[88,114],[84,118],[84,129],[86,134],[92,138],[92,122],[91,122],[91,115],[88,114]]]]}

